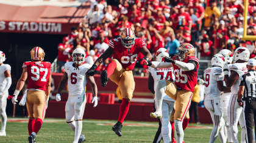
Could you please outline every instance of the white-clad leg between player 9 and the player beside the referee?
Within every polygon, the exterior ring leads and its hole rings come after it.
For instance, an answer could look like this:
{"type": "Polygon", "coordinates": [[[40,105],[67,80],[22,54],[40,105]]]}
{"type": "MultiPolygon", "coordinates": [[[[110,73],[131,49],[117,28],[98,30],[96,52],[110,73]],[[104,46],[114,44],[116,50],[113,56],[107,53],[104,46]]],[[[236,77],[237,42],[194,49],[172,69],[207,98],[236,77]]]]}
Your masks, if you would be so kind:
{"type": "Polygon", "coordinates": [[[227,116],[227,108],[229,107],[229,99],[230,99],[231,93],[223,93],[221,95],[221,107],[223,108],[223,119],[225,121],[225,127],[224,127],[224,133],[225,133],[225,142],[226,140],[229,142],[233,142],[232,136],[230,133],[230,127],[229,127],[229,117],[227,116]]]}

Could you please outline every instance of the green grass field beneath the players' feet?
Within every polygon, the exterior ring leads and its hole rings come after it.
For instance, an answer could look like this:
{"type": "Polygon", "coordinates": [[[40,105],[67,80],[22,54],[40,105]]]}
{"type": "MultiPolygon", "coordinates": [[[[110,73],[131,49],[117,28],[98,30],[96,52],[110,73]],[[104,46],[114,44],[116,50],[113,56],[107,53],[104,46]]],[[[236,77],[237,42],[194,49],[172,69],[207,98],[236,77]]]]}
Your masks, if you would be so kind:
{"type": "MultiPolygon", "coordinates": [[[[0,136],[0,142],[28,142],[27,121],[27,118],[9,118],[6,127],[7,136],[0,136]]],[[[157,122],[125,121],[123,136],[118,137],[111,130],[115,123],[116,121],[84,119],[82,134],[85,135],[86,142],[152,142],[158,125],[157,122]]],[[[190,124],[185,130],[184,141],[208,142],[211,131],[210,124],[190,124]]],[[[74,141],[74,132],[66,124],[65,119],[44,119],[35,141],[70,143],[74,141]]],[[[216,142],[220,142],[218,138],[216,142]]]]}

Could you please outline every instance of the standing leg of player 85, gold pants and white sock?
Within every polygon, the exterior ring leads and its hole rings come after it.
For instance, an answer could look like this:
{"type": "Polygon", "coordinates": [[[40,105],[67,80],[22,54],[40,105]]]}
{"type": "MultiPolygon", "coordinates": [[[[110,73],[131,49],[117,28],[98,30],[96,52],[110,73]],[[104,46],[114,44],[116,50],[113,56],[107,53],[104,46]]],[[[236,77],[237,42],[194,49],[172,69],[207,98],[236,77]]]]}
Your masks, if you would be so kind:
{"type": "MultiPolygon", "coordinates": [[[[174,84],[175,85],[175,84],[174,84]]],[[[176,111],[174,113],[174,126],[176,131],[176,142],[182,143],[184,131],[182,122],[190,108],[192,92],[188,90],[177,90],[176,95],[176,111]]]]}

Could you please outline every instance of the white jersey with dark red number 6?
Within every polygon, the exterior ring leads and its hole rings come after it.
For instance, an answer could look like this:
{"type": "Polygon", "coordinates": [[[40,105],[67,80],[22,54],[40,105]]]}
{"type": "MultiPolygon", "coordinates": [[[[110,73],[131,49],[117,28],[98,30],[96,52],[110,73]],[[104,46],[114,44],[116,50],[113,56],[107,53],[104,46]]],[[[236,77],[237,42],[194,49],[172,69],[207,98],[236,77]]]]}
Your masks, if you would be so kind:
{"type": "Polygon", "coordinates": [[[85,73],[91,67],[89,64],[80,65],[79,68],[73,67],[74,62],[66,62],[65,71],[68,74],[68,95],[85,94],[87,78],[85,73]]]}

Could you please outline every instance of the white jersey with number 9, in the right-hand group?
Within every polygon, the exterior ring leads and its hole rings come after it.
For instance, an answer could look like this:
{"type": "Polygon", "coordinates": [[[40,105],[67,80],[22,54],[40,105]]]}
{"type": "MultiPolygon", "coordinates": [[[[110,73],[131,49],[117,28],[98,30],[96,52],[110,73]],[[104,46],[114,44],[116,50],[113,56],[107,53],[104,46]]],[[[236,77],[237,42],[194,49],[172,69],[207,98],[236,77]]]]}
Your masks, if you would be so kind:
{"type": "Polygon", "coordinates": [[[222,81],[224,80],[224,74],[221,67],[208,67],[204,71],[205,79],[205,99],[204,100],[213,100],[220,99],[221,91],[219,91],[217,84],[217,76],[222,75],[222,81]]]}

